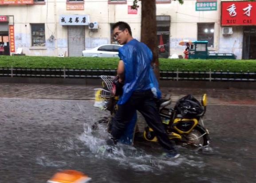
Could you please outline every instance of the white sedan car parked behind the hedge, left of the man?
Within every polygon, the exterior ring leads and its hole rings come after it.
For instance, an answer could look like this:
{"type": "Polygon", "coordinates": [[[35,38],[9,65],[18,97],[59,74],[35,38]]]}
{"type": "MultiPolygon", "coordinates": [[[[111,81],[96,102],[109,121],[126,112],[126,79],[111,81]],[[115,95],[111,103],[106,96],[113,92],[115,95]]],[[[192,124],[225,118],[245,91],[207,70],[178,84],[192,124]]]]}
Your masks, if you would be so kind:
{"type": "Polygon", "coordinates": [[[118,57],[122,45],[101,45],[91,50],[83,50],[83,57],[118,57]]]}

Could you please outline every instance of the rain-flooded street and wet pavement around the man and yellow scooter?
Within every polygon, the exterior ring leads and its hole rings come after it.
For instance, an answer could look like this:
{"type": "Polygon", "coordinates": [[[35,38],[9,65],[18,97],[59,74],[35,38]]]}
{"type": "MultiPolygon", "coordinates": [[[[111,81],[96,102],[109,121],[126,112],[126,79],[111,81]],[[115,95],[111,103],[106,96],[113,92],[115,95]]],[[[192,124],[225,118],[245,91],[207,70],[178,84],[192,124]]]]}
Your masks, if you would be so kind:
{"type": "Polygon", "coordinates": [[[0,183],[46,183],[55,172],[79,170],[92,183],[255,183],[255,90],[161,88],[175,101],[209,100],[210,151],[179,148],[175,160],[158,145],[118,145],[102,154],[106,132],[91,124],[108,115],[93,107],[95,86],[0,84],[0,183]]]}

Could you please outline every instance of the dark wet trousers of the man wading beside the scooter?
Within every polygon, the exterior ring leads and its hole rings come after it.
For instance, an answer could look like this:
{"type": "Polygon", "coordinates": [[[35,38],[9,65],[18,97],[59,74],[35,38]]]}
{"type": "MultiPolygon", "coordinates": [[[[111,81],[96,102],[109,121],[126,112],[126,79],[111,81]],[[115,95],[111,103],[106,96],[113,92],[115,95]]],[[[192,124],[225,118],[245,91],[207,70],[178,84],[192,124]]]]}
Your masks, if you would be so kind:
{"type": "Polygon", "coordinates": [[[114,116],[111,128],[113,138],[118,140],[121,137],[126,124],[131,120],[136,110],[143,115],[148,126],[154,130],[159,144],[167,151],[175,150],[161,122],[151,90],[135,91],[126,103],[118,105],[118,110],[114,116]]]}

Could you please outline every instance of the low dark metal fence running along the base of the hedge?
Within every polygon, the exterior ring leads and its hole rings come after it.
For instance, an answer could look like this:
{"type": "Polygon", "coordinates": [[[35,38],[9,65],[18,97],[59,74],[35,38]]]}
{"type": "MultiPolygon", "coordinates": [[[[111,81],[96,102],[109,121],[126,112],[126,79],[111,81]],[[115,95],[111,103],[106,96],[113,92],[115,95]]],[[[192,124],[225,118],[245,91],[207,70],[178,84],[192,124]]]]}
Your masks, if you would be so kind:
{"type": "MultiPolygon", "coordinates": [[[[0,77],[34,78],[99,78],[100,75],[116,75],[115,69],[66,69],[66,68],[0,68],[0,77]]],[[[205,80],[205,81],[256,81],[256,72],[228,71],[160,71],[161,80],[205,80]]]]}

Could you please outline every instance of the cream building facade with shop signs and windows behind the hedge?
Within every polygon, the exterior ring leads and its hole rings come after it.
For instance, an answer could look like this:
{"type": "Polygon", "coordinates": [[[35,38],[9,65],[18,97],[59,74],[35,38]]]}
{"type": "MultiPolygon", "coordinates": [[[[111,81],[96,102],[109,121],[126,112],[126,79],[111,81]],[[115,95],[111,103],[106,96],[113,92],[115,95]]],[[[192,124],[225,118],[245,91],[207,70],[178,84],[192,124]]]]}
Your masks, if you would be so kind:
{"type": "MultiPolygon", "coordinates": [[[[160,57],[183,55],[185,48],[178,43],[189,39],[208,41],[213,53],[256,59],[254,2],[156,3],[160,57]]],[[[26,55],[82,56],[83,50],[115,43],[111,26],[118,21],[129,23],[134,38],[140,40],[141,4],[137,11],[130,9],[132,4],[133,0],[0,0],[0,54],[11,55],[22,48],[26,55]]]]}

